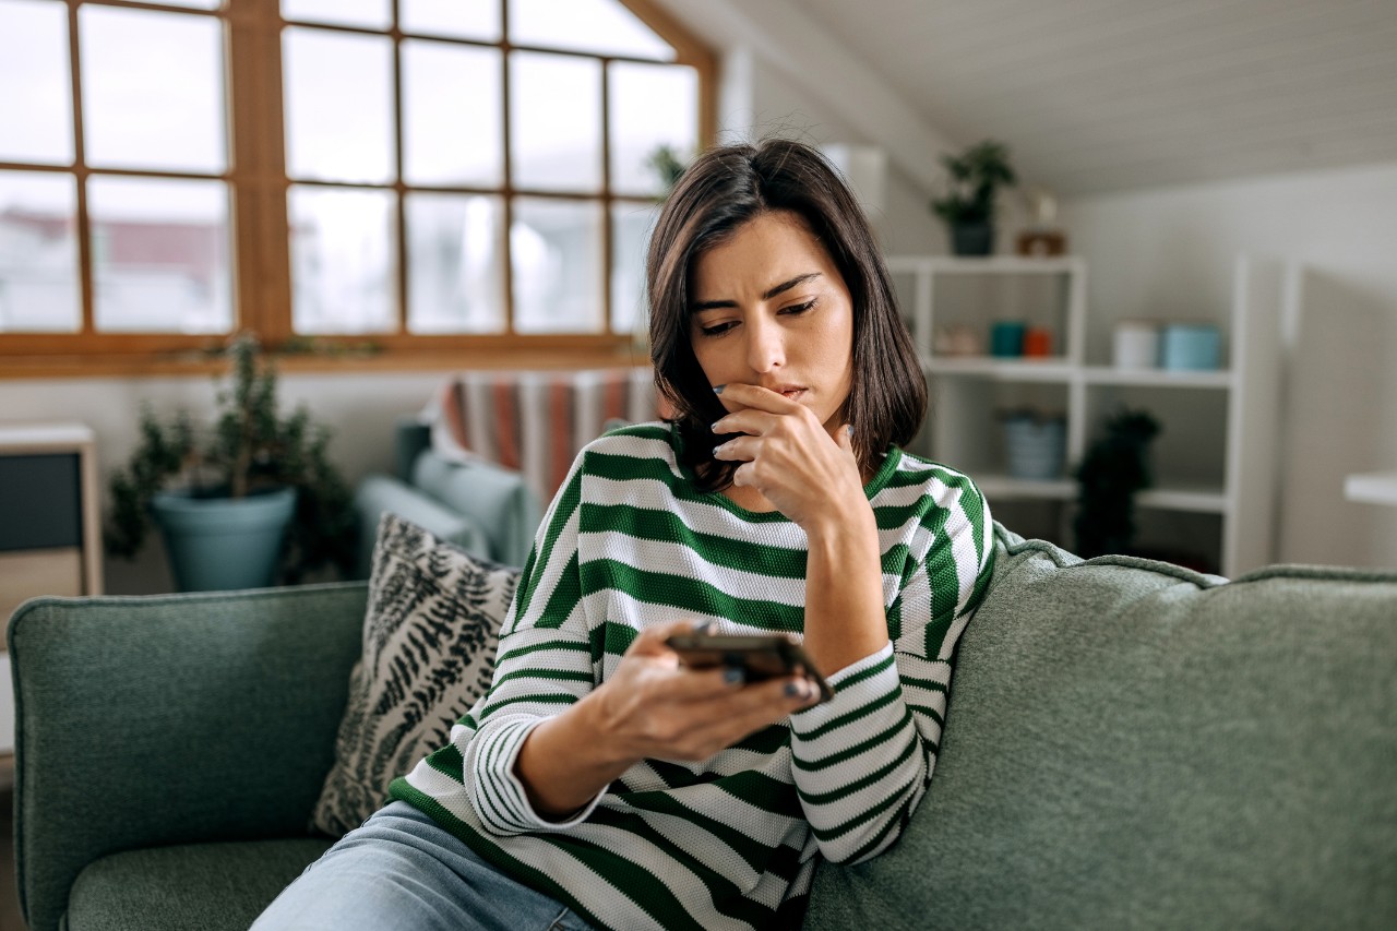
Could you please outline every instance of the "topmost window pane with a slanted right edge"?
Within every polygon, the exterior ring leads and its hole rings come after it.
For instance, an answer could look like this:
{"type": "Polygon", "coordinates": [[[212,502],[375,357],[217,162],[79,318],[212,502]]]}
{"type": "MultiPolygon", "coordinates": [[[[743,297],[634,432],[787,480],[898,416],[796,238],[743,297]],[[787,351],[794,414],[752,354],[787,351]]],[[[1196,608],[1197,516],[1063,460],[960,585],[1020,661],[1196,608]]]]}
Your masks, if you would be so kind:
{"type": "Polygon", "coordinates": [[[675,60],[673,48],[617,0],[510,0],[510,42],[675,60]]]}

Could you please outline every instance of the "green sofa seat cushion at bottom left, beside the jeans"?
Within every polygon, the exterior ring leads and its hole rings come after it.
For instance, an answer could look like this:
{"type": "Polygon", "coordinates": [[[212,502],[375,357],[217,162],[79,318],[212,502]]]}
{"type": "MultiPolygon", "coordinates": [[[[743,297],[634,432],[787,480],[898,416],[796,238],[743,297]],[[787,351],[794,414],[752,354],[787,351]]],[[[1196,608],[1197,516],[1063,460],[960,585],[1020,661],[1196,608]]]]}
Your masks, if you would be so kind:
{"type": "Polygon", "coordinates": [[[328,840],[148,847],[92,861],[68,895],[68,931],[246,931],[328,840]]]}

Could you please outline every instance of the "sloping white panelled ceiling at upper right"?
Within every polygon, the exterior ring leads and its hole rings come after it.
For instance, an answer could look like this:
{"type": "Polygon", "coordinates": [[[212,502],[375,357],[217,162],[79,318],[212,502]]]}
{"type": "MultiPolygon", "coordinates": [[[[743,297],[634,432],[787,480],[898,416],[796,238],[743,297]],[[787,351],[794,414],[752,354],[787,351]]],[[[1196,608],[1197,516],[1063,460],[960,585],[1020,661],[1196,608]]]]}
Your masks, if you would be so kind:
{"type": "Polygon", "coordinates": [[[1003,140],[1062,194],[1397,161],[1397,0],[784,8],[954,144],[1003,140]]]}

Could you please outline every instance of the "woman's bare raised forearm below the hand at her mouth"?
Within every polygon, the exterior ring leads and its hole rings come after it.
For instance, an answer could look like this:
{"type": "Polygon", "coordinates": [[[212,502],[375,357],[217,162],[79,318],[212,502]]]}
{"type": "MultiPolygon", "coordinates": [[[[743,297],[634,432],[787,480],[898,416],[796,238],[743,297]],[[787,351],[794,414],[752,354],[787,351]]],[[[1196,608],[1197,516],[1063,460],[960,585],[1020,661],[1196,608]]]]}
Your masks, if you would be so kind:
{"type": "Polygon", "coordinates": [[[826,675],[887,644],[877,524],[856,505],[806,528],[805,649],[826,675]]]}

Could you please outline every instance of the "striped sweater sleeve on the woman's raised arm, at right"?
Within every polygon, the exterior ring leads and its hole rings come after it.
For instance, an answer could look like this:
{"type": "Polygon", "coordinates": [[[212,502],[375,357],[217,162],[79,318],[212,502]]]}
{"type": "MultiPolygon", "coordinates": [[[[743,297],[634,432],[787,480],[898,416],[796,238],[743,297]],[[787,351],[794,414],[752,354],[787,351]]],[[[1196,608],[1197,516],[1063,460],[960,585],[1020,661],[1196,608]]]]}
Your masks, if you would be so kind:
{"type": "MultiPolygon", "coordinates": [[[[833,700],[791,716],[796,790],[820,853],[858,863],[897,840],[926,793],[946,716],[956,640],[990,575],[989,507],[968,478],[925,478],[911,538],[925,555],[901,572],[891,640],[830,677],[833,700]]],[[[887,566],[884,565],[884,570],[887,566]]]]}

